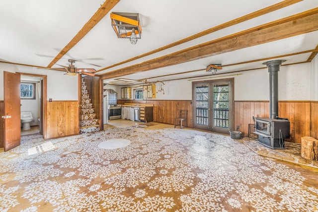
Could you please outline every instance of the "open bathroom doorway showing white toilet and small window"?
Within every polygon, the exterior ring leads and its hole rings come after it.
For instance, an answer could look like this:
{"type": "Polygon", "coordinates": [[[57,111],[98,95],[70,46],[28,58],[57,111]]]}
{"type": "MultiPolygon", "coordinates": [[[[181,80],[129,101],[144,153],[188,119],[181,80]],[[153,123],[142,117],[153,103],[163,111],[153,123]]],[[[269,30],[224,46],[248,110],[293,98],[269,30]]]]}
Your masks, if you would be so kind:
{"type": "Polygon", "coordinates": [[[43,136],[45,77],[29,73],[20,75],[21,136],[43,136]],[[22,120],[22,115],[27,120],[22,120]]]}

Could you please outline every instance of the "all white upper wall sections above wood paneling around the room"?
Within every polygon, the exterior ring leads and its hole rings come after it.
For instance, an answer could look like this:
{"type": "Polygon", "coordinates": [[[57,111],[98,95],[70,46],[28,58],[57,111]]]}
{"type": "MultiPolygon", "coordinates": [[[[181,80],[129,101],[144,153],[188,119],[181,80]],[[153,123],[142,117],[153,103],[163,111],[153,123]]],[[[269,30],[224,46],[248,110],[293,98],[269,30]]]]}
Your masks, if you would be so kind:
{"type": "MultiPolygon", "coordinates": [[[[43,71],[31,67],[0,63],[0,84],[3,84],[3,71],[45,73],[48,76],[48,99],[78,99],[78,80],[76,76],[63,75],[63,72],[60,71],[43,71]]],[[[268,69],[242,71],[240,73],[242,74],[226,76],[226,78],[235,78],[234,94],[236,101],[269,100],[268,69]]],[[[213,79],[220,78],[222,77],[213,79]]],[[[279,100],[318,100],[318,57],[316,56],[312,63],[280,67],[278,79],[279,100]]],[[[156,100],[191,100],[192,81],[187,79],[165,81],[164,94],[158,92],[156,100]]],[[[157,83],[157,89],[158,86],[159,83],[157,83]]],[[[124,86],[105,86],[105,88],[114,89],[118,93],[118,99],[121,99],[121,87],[124,86]]],[[[0,86],[0,100],[3,100],[3,86],[0,86]]]]}

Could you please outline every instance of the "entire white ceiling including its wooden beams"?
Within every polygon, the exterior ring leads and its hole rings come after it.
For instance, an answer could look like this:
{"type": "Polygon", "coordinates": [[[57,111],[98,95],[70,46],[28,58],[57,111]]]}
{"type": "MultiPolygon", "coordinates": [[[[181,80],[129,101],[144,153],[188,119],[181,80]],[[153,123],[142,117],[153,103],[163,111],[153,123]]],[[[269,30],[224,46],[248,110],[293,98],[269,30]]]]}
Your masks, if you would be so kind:
{"type": "Polygon", "coordinates": [[[211,75],[210,64],[230,74],[311,62],[318,0],[1,0],[0,29],[0,63],[61,68],[74,59],[106,83],[166,81],[211,75]],[[136,45],[117,38],[110,12],[139,13],[136,45]]]}

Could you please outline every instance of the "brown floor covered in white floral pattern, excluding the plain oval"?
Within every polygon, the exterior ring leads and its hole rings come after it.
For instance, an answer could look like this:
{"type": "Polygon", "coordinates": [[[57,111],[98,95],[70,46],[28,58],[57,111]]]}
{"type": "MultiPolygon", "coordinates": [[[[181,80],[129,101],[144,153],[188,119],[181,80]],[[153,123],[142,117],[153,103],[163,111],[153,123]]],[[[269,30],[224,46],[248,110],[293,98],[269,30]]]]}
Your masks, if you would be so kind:
{"type": "Polygon", "coordinates": [[[314,212],[318,170],[193,129],[114,128],[0,153],[1,212],[314,212]],[[109,139],[131,144],[102,149],[109,139]]]}

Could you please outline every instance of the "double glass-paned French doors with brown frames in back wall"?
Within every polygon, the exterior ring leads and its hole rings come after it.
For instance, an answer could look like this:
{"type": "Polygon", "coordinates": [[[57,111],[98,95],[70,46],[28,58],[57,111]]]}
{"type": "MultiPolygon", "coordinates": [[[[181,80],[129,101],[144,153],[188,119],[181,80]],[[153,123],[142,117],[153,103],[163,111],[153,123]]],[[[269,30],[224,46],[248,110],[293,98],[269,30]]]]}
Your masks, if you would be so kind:
{"type": "Polygon", "coordinates": [[[193,127],[229,134],[234,123],[233,78],[193,82],[193,127]]]}

